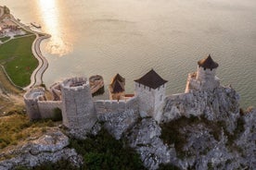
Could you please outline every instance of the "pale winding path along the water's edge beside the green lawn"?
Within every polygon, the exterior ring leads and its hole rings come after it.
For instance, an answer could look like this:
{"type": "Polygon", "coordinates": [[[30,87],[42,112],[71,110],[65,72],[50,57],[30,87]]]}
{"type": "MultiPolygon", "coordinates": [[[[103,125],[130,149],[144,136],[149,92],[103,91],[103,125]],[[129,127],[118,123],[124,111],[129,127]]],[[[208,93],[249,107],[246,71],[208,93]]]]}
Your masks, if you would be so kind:
{"type": "Polygon", "coordinates": [[[27,87],[23,88],[24,90],[27,91],[30,88],[32,88],[33,86],[41,85],[43,83],[43,75],[45,73],[45,70],[48,67],[48,62],[47,62],[45,56],[42,55],[42,52],[40,50],[40,43],[43,40],[50,38],[51,36],[49,34],[39,33],[37,31],[31,30],[28,26],[20,23],[14,17],[11,17],[10,20],[13,21],[14,23],[16,23],[17,25],[19,25],[20,28],[30,31],[36,35],[34,42],[32,42],[32,54],[38,60],[39,64],[38,64],[38,67],[36,67],[32,72],[31,84],[28,85],[27,87]]]}

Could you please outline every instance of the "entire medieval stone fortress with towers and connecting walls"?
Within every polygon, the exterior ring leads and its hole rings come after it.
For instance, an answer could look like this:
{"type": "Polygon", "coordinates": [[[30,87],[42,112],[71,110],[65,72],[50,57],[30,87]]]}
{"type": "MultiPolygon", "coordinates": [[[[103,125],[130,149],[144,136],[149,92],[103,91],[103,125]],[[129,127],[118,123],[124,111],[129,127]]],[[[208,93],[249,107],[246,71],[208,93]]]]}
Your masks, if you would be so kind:
{"type": "MultiPolygon", "coordinates": [[[[218,64],[212,60],[211,55],[198,61],[197,72],[188,74],[185,93],[169,97],[181,99],[186,98],[191,91],[218,88],[220,79],[215,76],[217,67],[218,64]]],[[[166,82],[151,69],[140,79],[134,80],[134,94],[126,95],[125,79],[117,74],[109,85],[109,100],[94,100],[88,79],[70,78],[51,86],[53,100],[46,100],[44,88],[34,88],[25,93],[24,101],[31,119],[49,118],[53,116],[54,109],[59,108],[64,126],[86,132],[95,125],[98,115],[122,114],[129,110],[138,112],[142,117],[151,116],[160,122],[166,105],[166,82]]],[[[174,117],[178,109],[174,110],[167,116],[174,117]]]]}

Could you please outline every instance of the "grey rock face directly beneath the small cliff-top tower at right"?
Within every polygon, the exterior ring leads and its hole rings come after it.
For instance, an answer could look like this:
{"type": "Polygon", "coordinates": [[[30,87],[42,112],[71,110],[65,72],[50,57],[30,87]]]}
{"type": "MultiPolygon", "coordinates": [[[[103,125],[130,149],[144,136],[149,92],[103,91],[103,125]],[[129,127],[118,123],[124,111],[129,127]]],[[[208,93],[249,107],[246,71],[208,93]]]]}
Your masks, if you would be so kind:
{"type": "Polygon", "coordinates": [[[168,122],[181,115],[203,115],[211,121],[225,121],[227,130],[232,132],[239,113],[238,100],[239,95],[231,86],[174,94],[166,98],[162,121],[168,122]]]}

